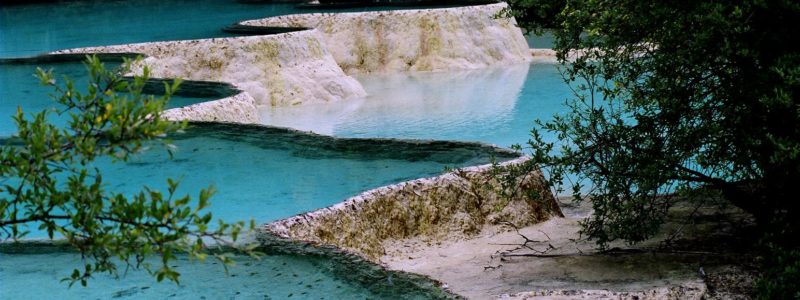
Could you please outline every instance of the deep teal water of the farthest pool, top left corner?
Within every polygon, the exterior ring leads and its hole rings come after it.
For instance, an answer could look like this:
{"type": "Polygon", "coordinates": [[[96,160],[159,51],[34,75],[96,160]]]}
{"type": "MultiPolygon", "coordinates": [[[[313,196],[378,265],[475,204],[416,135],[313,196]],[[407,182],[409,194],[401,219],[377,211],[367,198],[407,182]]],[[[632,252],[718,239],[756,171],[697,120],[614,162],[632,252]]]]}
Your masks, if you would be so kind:
{"type": "Polygon", "coordinates": [[[229,36],[241,19],[296,12],[293,4],[225,0],[64,1],[0,6],[0,57],[137,42],[229,36]],[[42,21],[46,20],[46,21],[42,21]]]}

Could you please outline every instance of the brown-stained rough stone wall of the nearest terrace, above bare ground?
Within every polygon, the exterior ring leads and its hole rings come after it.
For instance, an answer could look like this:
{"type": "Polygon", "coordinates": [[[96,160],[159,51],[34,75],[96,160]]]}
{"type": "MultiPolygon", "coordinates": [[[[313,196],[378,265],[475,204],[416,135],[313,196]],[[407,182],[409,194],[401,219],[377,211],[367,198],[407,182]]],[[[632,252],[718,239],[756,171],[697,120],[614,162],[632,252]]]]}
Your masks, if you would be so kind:
{"type": "Polygon", "coordinates": [[[526,190],[537,191],[538,200],[525,193],[503,199],[496,193],[500,186],[491,177],[493,168],[491,164],[469,167],[373,189],[330,207],[267,224],[260,239],[333,245],[377,262],[385,254],[384,243],[392,240],[468,237],[487,224],[526,226],[560,214],[541,172],[519,181],[526,190]]]}

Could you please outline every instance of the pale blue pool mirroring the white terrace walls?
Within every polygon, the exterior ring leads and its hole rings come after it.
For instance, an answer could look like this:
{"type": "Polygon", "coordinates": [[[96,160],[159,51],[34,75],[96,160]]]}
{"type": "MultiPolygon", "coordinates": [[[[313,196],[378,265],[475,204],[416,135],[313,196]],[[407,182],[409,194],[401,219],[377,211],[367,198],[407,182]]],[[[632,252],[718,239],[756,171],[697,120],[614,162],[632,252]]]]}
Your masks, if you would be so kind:
{"type": "Polygon", "coordinates": [[[263,108],[264,124],[346,137],[524,143],[535,119],[563,110],[571,91],[555,65],[362,75],[369,96],[263,108]]]}

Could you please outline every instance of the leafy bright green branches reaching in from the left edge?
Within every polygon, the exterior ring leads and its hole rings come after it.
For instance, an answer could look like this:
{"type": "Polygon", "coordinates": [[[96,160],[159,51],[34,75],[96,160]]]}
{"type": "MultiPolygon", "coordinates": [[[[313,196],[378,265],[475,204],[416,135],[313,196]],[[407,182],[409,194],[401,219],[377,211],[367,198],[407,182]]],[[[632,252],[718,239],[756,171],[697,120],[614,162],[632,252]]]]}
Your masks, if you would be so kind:
{"type": "MultiPolygon", "coordinates": [[[[81,93],[65,78],[63,83],[49,71],[38,71],[43,85],[53,87],[58,114],[69,116],[64,127],[48,122],[51,112],[32,117],[18,109],[13,143],[0,148],[0,239],[17,240],[32,226],[50,238],[65,238],[88,258],[67,280],[86,285],[95,272],[116,273],[117,262],[144,267],[161,281],[178,281],[169,261],[178,253],[203,259],[203,238],[236,240],[244,223],[220,222],[210,230],[209,205],[213,189],[201,190],[197,205],[190,197],[175,195],[177,182],[167,179],[166,194],[144,188],[126,196],[106,189],[102,174],[91,167],[100,157],[126,161],[131,155],[164,144],[185,128],[185,123],[162,120],[161,112],[179,81],[164,84],[160,98],[142,93],[148,71],[124,80],[131,62],[121,70],[106,70],[97,57],[89,57],[88,90],[81,93]],[[125,93],[119,94],[119,93],[125,93]],[[145,258],[160,257],[151,266],[145,258]]],[[[251,223],[252,226],[252,223],[251,223]]],[[[218,258],[229,262],[225,256],[218,258]]]]}

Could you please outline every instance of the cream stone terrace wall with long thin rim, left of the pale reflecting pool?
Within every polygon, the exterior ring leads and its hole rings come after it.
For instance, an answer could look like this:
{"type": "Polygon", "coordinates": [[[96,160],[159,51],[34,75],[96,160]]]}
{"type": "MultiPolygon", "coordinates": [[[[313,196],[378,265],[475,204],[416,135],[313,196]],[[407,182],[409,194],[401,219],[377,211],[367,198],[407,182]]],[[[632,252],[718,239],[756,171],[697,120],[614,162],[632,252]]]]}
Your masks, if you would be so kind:
{"type": "Polygon", "coordinates": [[[61,50],[56,54],[142,53],[133,72],[152,77],[221,81],[247,92],[258,105],[296,105],[364,96],[342,72],[316,30],[275,35],[152,42],[61,50]]]}

